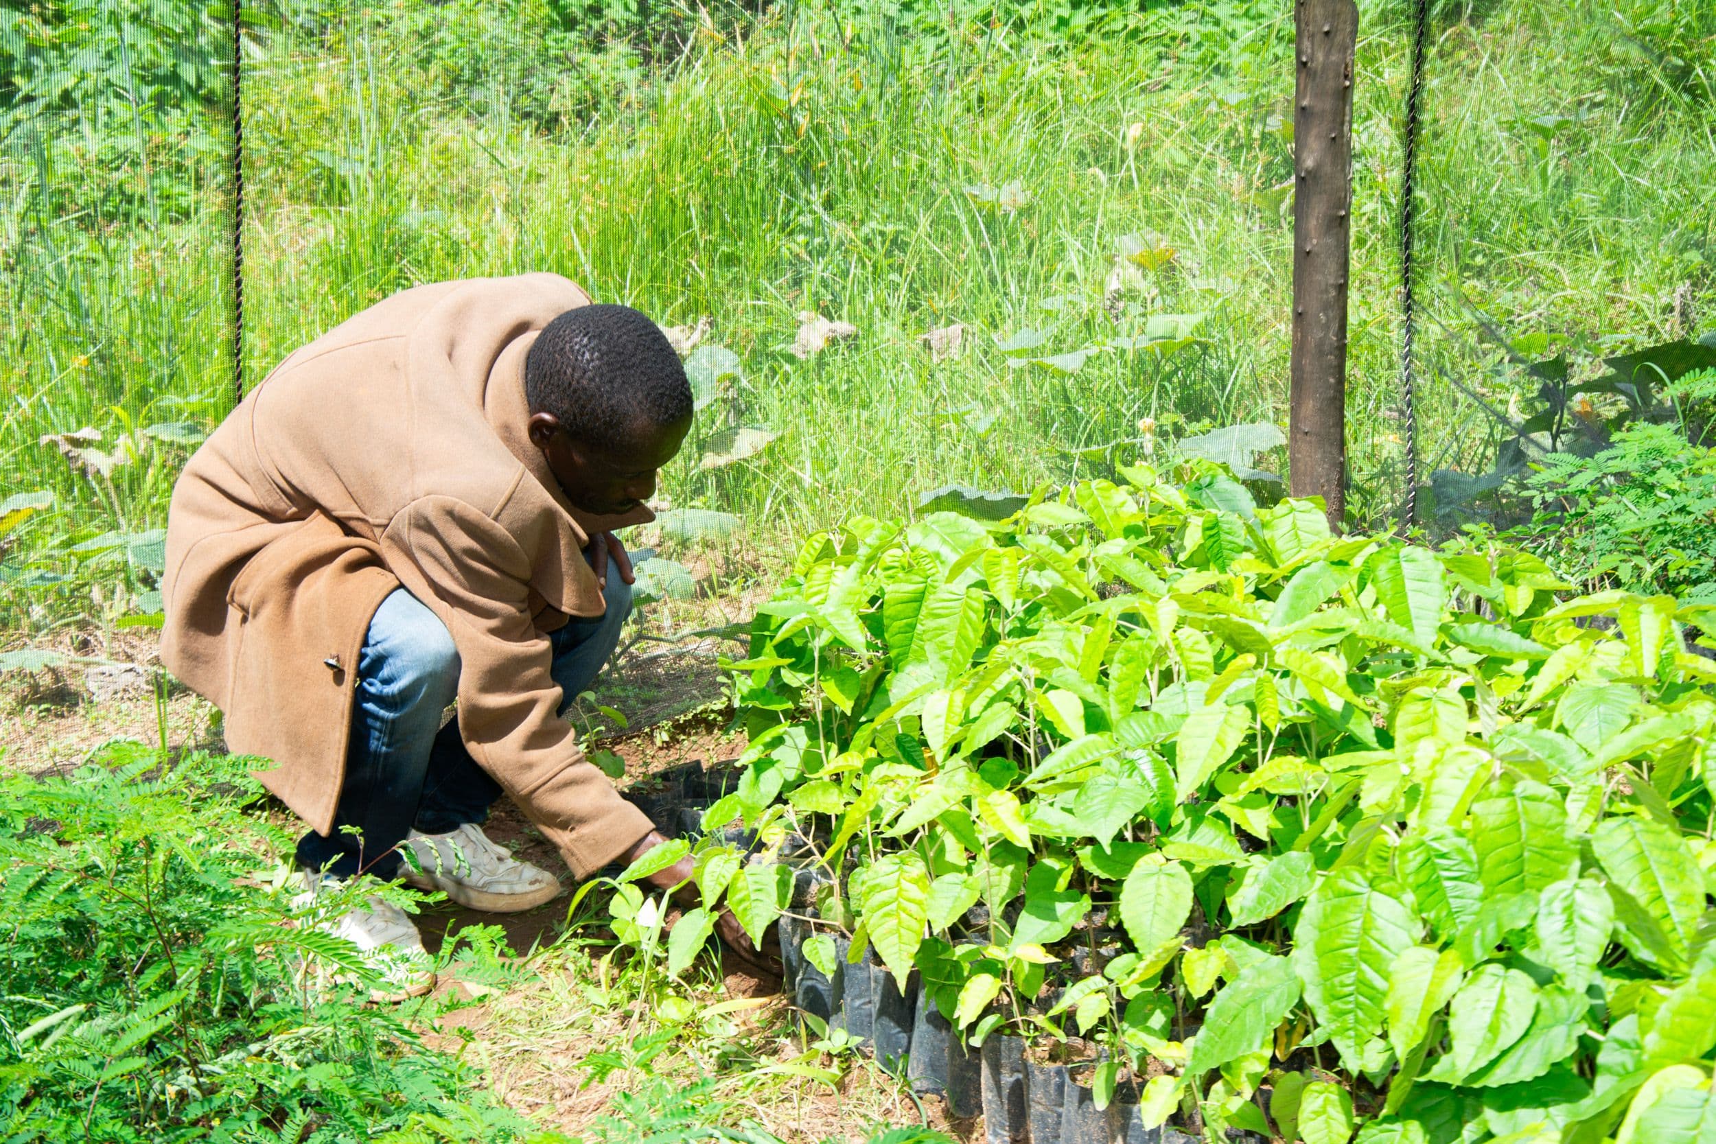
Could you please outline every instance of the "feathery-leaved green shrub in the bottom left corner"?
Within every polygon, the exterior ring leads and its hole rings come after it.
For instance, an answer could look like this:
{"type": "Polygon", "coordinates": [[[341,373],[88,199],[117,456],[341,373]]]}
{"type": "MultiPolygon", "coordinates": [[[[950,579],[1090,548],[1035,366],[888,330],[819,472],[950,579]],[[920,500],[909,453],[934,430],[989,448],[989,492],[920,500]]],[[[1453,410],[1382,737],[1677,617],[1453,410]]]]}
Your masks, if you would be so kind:
{"type": "Polygon", "coordinates": [[[239,767],[105,762],[0,780],[0,1137],[546,1139],[391,1010],[305,986],[360,962],[245,882],[285,840],[239,767]]]}

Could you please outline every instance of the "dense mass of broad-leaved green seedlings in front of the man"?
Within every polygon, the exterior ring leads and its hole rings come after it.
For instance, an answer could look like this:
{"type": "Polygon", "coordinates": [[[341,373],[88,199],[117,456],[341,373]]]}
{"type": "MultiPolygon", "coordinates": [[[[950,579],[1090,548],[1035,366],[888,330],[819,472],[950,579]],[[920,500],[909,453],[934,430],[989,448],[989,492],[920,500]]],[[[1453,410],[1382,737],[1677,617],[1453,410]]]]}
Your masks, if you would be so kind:
{"type": "MultiPolygon", "coordinates": [[[[758,609],[710,815],[831,876],[807,955],[844,930],[1213,1139],[1694,1139],[1711,609],[1122,472],[858,516],[758,609]]],[[[791,883],[714,842],[698,880],[757,931],[791,883]]]]}

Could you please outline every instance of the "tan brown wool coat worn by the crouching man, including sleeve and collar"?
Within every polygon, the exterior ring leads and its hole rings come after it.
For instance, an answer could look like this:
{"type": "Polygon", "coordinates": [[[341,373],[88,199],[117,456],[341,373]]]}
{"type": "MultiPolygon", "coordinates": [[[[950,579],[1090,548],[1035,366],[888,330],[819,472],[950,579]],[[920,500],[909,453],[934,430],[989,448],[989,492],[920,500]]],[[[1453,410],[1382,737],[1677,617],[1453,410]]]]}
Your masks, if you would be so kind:
{"type": "Polygon", "coordinates": [[[326,834],[359,650],[405,587],[458,648],[472,756],[578,876],[649,830],[556,715],[547,633],[604,609],[590,532],[525,436],[525,352],[589,295],[558,274],[417,286],[297,350],[173,491],[161,660],[221,708],[233,751],[326,834]]]}

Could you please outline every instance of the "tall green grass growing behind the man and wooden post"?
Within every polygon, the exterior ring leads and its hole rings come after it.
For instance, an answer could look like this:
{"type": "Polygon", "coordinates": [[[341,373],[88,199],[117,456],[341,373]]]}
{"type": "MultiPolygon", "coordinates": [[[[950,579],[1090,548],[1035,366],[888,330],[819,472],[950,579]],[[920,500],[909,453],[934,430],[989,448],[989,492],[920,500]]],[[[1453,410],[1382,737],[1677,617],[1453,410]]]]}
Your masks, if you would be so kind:
{"type": "MultiPolygon", "coordinates": [[[[741,408],[710,410],[705,431],[731,415],[781,436],[719,470],[700,468],[692,448],[664,489],[678,504],[738,513],[762,552],[851,511],[909,511],[949,480],[1028,487],[1088,472],[1102,461],[1079,449],[1139,436],[1143,417],[1163,432],[1285,420],[1287,5],[1151,7],[1072,33],[1042,5],[937,34],[911,7],[788,5],[709,26],[683,53],[661,53],[649,82],[613,53],[566,60],[568,82],[601,94],[554,125],[541,91],[501,65],[530,50],[527,26],[455,5],[460,21],[489,24],[460,24],[456,43],[426,39],[420,7],[324,15],[259,39],[247,117],[252,382],[326,326],[439,278],[553,269],[664,324],[709,316],[709,340],[741,355],[745,379],[741,408]],[[1011,180],[1028,194],[1014,213],[966,192],[1011,180]],[[1115,328],[1103,283],[1121,238],[1139,233],[1177,257],[1126,295],[1115,328]],[[855,322],[858,338],[800,362],[784,346],[807,309],[855,322]],[[1165,362],[1098,353],[1059,376],[1011,369],[992,341],[1047,328],[1042,352],[1059,353],[1163,312],[1205,314],[1208,343],[1165,362]],[[918,334],[954,321],[968,352],[932,364],[918,334]]],[[[1419,187],[1426,468],[1483,468],[1496,441],[1453,381],[1498,406],[1529,396],[1498,367],[1476,314],[1510,334],[1603,346],[1689,333],[1716,312],[1716,99],[1707,55],[1685,48],[1716,27],[1680,29],[1673,67],[1632,33],[1656,7],[1438,9],[1419,187]]],[[[1376,520],[1397,506],[1404,460],[1405,10],[1366,3],[1361,29],[1349,443],[1354,504],[1376,520]]],[[[206,240],[213,218],[184,223],[177,240],[168,228],[113,235],[115,254],[79,271],[77,290],[137,331],[110,338],[125,357],[106,403],[220,388],[218,326],[197,317],[213,295],[175,288],[220,257],[206,240]],[[139,262],[166,273],[122,269],[139,262]],[[168,329],[180,346],[172,367],[156,348],[168,329]]],[[[26,271],[38,304],[69,298],[48,274],[26,271]]],[[[5,338],[7,484],[51,480],[67,504],[100,515],[93,491],[34,448],[43,432],[103,417],[67,372],[82,328],[65,305],[46,336],[14,322],[5,338]]],[[[158,521],[165,489],[139,496],[134,515],[158,521]]]]}

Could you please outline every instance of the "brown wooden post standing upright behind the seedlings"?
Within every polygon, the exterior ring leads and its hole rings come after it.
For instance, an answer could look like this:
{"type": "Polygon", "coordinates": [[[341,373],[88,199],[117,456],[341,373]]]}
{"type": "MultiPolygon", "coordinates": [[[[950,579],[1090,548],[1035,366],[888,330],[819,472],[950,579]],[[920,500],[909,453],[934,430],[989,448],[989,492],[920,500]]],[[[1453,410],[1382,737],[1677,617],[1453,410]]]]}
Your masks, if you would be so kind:
{"type": "Polygon", "coordinates": [[[1292,408],[1294,496],[1347,503],[1347,262],[1352,238],[1356,0],[1294,0],[1292,408]]]}

